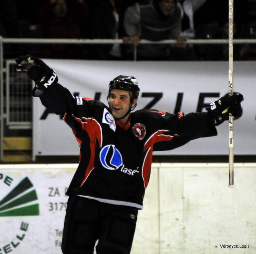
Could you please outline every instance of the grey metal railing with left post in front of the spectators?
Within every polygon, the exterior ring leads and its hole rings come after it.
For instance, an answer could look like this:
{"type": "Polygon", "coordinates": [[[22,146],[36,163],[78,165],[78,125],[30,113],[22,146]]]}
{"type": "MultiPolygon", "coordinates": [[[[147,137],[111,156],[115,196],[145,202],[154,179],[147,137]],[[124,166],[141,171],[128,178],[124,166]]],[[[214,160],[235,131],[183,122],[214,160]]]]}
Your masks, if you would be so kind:
{"type": "MultiPolygon", "coordinates": [[[[234,44],[256,44],[256,39],[234,39],[234,44]]],[[[38,38],[3,38],[0,36],[0,161],[4,159],[3,143],[4,143],[4,119],[6,113],[4,112],[4,84],[3,74],[6,73],[4,69],[4,44],[122,44],[122,39],[38,39],[38,38]]],[[[167,39],[162,41],[148,41],[140,40],[140,44],[176,44],[174,39],[167,39]]],[[[188,39],[187,44],[228,44],[228,39],[188,39]]],[[[134,46],[133,60],[137,59],[137,48],[134,46]]],[[[7,106],[8,107],[8,106],[7,106]]],[[[7,119],[8,120],[8,119],[7,119]]],[[[10,121],[9,121],[10,122],[10,121]]]]}

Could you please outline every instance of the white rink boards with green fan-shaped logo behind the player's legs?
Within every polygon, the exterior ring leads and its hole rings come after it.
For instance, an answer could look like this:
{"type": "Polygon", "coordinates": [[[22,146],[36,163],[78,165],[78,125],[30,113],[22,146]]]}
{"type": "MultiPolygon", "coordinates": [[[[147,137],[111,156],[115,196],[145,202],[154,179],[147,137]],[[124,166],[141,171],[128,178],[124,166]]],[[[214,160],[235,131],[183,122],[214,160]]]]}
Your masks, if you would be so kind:
{"type": "MultiPolygon", "coordinates": [[[[64,193],[76,167],[0,165],[0,254],[61,253],[64,193]],[[32,183],[24,192],[23,179],[32,183]],[[23,198],[33,190],[36,198],[23,198]],[[30,213],[28,205],[39,207],[39,215],[21,216],[22,209],[30,213]]],[[[228,188],[228,163],[153,163],[131,253],[256,253],[255,170],[256,163],[235,163],[235,186],[228,188]]]]}

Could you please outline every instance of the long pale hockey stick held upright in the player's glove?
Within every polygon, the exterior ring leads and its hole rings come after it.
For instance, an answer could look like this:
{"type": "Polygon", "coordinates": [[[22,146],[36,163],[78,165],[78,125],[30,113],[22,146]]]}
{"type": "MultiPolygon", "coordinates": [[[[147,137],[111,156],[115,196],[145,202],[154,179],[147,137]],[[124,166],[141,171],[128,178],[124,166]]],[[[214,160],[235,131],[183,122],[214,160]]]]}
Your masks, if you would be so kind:
{"type": "MultiPolygon", "coordinates": [[[[229,0],[228,4],[228,23],[229,23],[229,40],[228,40],[228,94],[233,95],[233,19],[234,19],[234,2],[229,0]]],[[[228,187],[234,187],[234,139],[233,139],[233,120],[234,117],[229,113],[228,126],[229,126],[229,183],[228,187]]]]}

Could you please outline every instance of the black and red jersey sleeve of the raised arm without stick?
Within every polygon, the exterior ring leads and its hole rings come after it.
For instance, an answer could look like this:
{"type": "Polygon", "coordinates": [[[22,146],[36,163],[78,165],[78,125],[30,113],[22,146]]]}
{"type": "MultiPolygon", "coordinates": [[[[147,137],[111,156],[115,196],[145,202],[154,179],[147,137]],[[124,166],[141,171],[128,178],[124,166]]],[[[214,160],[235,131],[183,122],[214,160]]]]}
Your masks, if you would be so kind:
{"type": "Polygon", "coordinates": [[[72,128],[77,142],[81,146],[85,138],[102,142],[100,124],[97,122],[104,104],[90,98],[74,97],[70,91],[55,83],[39,96],[48,112],[63,116],[63,120],[72,128]]]}

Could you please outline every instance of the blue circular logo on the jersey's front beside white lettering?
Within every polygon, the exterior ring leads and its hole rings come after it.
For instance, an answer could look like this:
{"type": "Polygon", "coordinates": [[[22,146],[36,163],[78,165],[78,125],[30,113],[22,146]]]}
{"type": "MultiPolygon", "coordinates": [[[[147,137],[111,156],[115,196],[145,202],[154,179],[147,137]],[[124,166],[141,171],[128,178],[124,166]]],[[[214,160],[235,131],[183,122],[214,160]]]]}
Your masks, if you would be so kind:
{"type": "Polygon", "coordinates": [[[123,164],[123,159],[116,146],[107,145],[100,151],[100,162],[106,169],[115,170],[123,164]]]}

